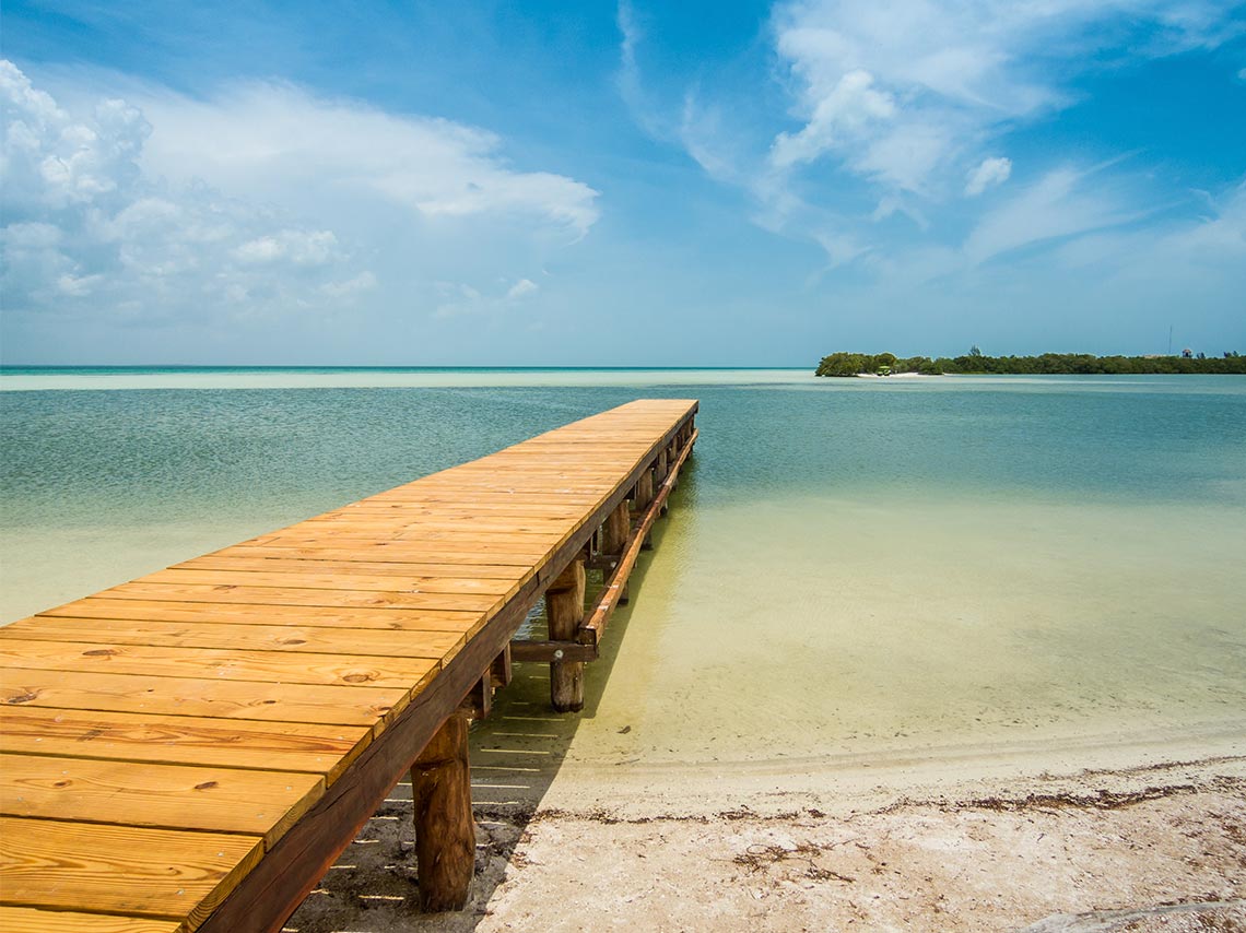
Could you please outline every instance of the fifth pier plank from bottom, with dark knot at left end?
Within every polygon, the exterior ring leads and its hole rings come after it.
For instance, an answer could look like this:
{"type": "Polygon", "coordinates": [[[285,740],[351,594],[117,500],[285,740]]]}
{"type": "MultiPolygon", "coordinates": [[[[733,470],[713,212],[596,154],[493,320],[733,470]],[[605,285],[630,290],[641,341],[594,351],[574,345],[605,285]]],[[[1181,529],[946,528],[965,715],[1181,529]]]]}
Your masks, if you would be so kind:
{"type": "Polygon", "coordinates": [[[66,670],[7,670],[0,684],[0,703],[12,705],[326,725],[371,726],[392,718],[407,699],[406,690],[394,688],[66,670]]]}

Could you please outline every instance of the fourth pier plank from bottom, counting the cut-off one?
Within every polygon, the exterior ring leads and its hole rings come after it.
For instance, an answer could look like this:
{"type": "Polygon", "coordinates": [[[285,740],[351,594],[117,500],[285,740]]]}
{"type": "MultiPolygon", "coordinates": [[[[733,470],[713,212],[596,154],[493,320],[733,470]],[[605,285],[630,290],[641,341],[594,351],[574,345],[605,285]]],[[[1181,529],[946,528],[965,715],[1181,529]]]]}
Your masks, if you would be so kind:
{"type": "Polygon", "coordinates": [[[369,726],[0,706],[4,752],[305,771],[329,784],[371,734],[369,726]]]}

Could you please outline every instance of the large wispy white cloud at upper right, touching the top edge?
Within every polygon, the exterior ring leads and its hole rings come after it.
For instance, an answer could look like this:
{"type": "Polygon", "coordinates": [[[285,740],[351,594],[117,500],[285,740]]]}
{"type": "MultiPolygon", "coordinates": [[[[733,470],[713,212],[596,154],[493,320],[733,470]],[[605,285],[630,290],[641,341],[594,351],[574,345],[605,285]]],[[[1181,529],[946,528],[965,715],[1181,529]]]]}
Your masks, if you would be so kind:
{"type": "MultiPolygon", "coordinates": [[[[766,229],[824,247],[852,242],[827,250],[832,265],[849,255],[882,268],[878,222],[902,213],[937,235],[934,212],[1008,181],[1011,159],[991,149],[1072,103],[1069,88],[1101,50],[1158,57],[1214,47],[1244,27],[1215,0],[790,0],[775,6],[771,29],[795,128],[774,133],[759,164],[685,107],[684,144],[713,177],[753,194],[766,229]]],[[[1068,224],[1049,218],[1053,228],[1094,228],[1075,203],[1058,212],[1068,224]]],[[[1015,239],[983,225],[973,252],[1015,239]]]]}

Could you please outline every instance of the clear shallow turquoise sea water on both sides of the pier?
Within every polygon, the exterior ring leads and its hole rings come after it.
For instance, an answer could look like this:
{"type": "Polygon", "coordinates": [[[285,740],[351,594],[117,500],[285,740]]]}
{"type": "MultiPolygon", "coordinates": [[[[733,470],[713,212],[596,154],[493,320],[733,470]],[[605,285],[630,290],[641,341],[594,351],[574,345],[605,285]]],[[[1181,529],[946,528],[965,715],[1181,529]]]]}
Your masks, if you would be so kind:
{"type": "Polygon", "coordinates": [[[695,458],[613,665],[589,669],[609,679],[574,757],[1246,734],[1246,379],[10,370],[0,385],[6,620],[630,399],[698,397],[695,458]]]}

